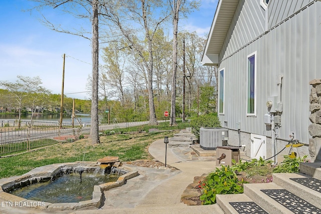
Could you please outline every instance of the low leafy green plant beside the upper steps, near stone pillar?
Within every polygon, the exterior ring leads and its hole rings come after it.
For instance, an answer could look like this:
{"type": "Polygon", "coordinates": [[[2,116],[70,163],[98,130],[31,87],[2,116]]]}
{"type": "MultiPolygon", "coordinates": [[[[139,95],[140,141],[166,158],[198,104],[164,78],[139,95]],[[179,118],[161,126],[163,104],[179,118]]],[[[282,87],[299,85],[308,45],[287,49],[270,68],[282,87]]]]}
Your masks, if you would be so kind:
{"type": "Polygon", "coordinates": [[[293,173],[293,172],[299,172],[300,170],[300,162],[307,162],[306,157],[307,155],[304,155],[301,157],[294,157],[291,158],[288,155],[284,155],[284,160],[273,169],[273,173],[293,173]]]}

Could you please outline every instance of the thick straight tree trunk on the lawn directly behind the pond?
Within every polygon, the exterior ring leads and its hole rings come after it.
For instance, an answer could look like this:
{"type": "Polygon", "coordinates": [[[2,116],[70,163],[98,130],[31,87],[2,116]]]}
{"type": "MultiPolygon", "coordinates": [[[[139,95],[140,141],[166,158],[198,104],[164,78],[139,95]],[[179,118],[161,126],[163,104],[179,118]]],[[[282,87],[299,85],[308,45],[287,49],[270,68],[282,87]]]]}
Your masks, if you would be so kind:
{"type": "Polygon", "coordinates": [[[99,121],[98,121],[98,0],[92,2],[92,92],[91,92],[91,143],[100,143],[99,140],[99,121]]]}

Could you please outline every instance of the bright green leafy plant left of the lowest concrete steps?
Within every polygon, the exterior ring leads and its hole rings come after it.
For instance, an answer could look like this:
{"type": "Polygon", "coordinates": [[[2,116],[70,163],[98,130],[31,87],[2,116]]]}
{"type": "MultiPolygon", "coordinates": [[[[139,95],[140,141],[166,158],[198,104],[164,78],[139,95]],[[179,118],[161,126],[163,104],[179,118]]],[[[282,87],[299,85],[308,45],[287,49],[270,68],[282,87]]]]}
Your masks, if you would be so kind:
{"type": "Polygon", "coordinates": [[[203,192],[200,199],[203,204],[213,204],[216,203],[217,194],[243,193],[243,183],[243,179],[240,182],[230,166],[222,165],[222,168],[216,168],[200,183],[203,192]]]}

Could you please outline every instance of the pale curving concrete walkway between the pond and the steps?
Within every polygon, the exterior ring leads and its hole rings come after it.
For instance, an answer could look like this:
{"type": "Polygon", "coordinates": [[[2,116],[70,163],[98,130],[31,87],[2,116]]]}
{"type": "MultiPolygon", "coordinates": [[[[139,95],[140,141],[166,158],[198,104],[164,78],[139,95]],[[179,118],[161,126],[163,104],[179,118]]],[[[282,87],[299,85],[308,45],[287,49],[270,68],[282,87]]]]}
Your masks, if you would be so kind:
{"type": "MultiPolygon", "coordinates": [[[[163,139],[157,140],[148,151],[165,163],[165,146],[163,139]]],[[[224,213],[217,204],[188,206],[181,202],[183,191],[193,183],[194,177],[209,173],[216,167],[214,158],[196,157],[192,151],[188,147],[168,147],[167,164],[179,170],[137,167],[139,176],[121,187],[105,191],[107,199],[104,206],[90,210],[90,213],[224,213]]],[[[88,211],[71,213],[87,214],[88,211]]]]}

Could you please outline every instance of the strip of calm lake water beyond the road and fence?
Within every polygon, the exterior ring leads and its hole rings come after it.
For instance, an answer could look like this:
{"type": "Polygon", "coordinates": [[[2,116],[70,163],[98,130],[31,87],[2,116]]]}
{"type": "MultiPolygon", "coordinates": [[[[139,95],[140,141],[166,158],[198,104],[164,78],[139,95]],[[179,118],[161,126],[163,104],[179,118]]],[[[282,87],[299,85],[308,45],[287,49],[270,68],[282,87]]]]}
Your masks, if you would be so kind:
{"type": "MultiPolygon", "coordinates": [[[[81,120],[82,122],[90,122],[91,116],[90,114],[75,114],[78,120],[81,120]]],[[[19,115],[13,115],[13,114],[0,114],[0,121],[3,120],[18,120],[19,115]]],[[[22,120],[30,120],[31,114],[28,115],[21,115],[22,120]]],[[[34,114],[33,120],[42,120],[42,121],[59,121],[60,120],[60,114],[34,114]]],[[[72,118],[69,114],[63,115],[63,122],[71,122],[72,118]]],[[[75,118],[75,122],[76,122],[75,118]]]]}

